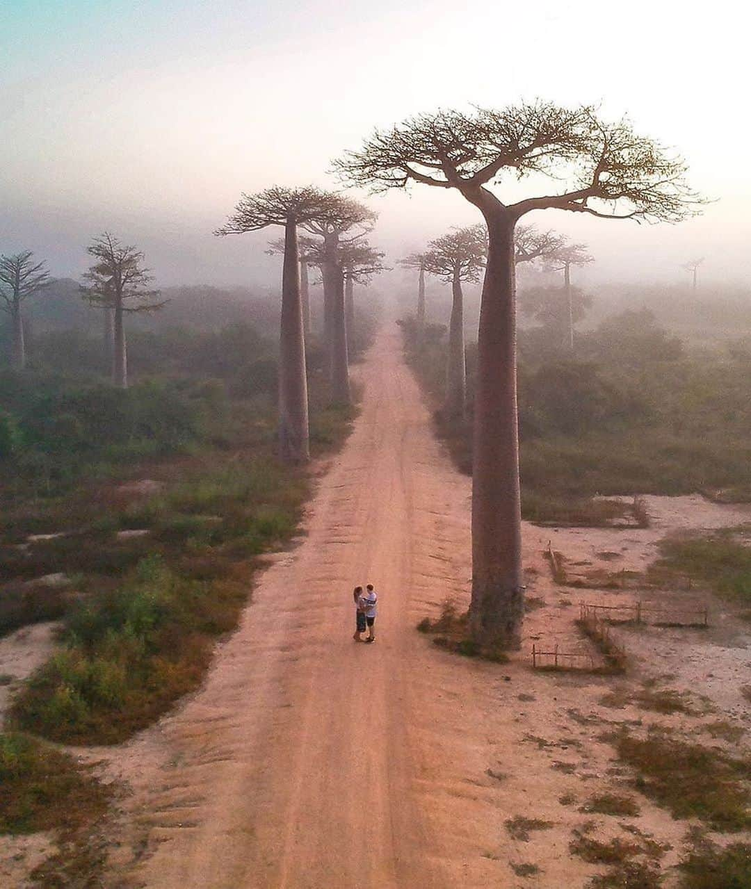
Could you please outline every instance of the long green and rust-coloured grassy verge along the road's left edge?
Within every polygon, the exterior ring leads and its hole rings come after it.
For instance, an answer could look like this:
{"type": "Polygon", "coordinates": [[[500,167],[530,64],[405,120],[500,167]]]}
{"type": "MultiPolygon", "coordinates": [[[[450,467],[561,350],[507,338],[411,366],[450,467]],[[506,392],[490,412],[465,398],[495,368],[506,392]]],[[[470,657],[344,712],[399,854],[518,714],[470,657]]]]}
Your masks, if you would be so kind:
{"type": "MultiPolygon", "coordinates": [[[[313,452],[341,445],[354,413],[320,411],[313,452]]],[[[184,461],[159,493],[113,501],[87,528],[34,544],[25,570],[75,574],[77,596],[60,650],[17,695],[13,724],[52,741],[112,744],[156,720],[198,687],[216,639],[237,626],[254,557],[296,532],[308,494],[307,474],[279,464],[267,440],[252,454],[184,461]],[[123,529],[147,533],[118,538],[123,529]]],[[[27,605],[25,621],[49,616],[27,605]]]]}

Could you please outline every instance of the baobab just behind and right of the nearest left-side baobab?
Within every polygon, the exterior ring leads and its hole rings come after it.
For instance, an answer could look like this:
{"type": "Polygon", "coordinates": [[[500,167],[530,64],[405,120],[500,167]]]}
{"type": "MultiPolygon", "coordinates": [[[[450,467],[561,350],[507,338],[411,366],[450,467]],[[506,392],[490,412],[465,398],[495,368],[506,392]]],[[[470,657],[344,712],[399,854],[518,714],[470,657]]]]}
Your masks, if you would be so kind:
{"type": "Polygon", "coordinates": [[[347,348],[347,318],[344,308],[344,272],[341,250],[357,244],[372,231],[376,213],[351,197],[332,196],[326,212],[303,225],[323,240],[324,342],[327,353],[331,397],[335,404],[350,404],[350,370],[347,348]]]}

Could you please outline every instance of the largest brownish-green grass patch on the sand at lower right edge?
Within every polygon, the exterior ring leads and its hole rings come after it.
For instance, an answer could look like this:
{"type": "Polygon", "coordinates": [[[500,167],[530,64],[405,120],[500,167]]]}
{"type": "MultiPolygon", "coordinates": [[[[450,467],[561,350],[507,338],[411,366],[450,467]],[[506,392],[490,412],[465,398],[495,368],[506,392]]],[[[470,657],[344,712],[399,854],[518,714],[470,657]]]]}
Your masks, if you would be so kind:
{"type": "Polygon", "coordinates": [[[674,818],[696,817],[720,831],[751,826],[751,763],[652,730],[646,738],[623,733],[618,756],[634,768],[634,786],[674,818]]]}

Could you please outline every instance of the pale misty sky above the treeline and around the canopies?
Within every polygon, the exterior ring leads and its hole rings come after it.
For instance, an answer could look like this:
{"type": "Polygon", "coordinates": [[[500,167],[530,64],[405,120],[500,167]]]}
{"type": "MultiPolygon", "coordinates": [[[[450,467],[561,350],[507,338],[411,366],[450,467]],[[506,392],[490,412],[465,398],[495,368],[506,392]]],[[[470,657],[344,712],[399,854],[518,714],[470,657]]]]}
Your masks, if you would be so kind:
{"type": "MultiPolygon", "coordinates": [[[[0,252],[79,276],[108,228],[158,284],[268,284],[266,235],[216,238],[240,191],[327,177],[375,125],[521,99],[602,102],[679,148],[717,198],[679,226],[547,211],[590,244],[594,279],[751,278],[749,13],[719,0],[47,0],[0,2],[0,252]]],[[[368,198],[371,240],[398,259],[480,216],[456,192],[368,198]]]]}

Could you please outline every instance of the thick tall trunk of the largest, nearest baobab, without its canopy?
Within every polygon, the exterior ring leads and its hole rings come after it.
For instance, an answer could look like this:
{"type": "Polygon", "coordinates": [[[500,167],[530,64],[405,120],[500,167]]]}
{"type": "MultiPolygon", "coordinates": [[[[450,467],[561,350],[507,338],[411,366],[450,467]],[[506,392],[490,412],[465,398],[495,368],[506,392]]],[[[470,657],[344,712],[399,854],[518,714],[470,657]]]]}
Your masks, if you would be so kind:
{"type": "Polygon", "coordinates": [[[513,228],[503,210],[483,210],[489,228],[474,403],[472,606],[475,642],[519,648],[524,597],[516,400],[513,228]]]}

